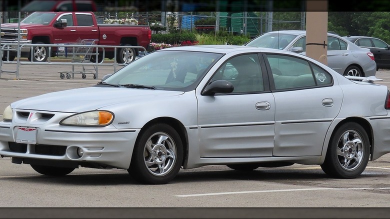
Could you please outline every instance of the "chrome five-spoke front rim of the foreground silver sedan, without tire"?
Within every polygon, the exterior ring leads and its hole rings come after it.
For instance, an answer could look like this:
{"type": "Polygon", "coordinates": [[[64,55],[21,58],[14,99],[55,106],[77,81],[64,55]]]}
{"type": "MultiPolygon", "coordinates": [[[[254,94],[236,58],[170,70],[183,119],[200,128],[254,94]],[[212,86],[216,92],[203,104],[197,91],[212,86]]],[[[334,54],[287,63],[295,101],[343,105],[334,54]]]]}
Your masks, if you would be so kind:
{"type": "Polygon", "coordinates": [[[143,151],[147,170],[153,175],[165,175],[176,162],[176,144],[172,137],[164,132],[150,136],[143,151]]]}

